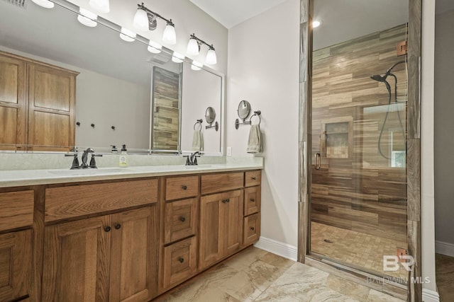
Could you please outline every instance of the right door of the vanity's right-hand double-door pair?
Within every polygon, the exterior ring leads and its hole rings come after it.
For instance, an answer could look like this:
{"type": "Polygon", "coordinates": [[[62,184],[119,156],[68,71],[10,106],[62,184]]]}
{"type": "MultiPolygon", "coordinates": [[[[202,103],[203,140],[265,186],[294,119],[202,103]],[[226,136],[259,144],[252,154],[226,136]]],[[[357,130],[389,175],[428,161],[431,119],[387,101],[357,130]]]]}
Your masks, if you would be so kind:
{"type": "Polygon", "coordinates": [[[226,193],[223,204],[224,256],[233,255],[243,243],[243,190],[226,193]]]}

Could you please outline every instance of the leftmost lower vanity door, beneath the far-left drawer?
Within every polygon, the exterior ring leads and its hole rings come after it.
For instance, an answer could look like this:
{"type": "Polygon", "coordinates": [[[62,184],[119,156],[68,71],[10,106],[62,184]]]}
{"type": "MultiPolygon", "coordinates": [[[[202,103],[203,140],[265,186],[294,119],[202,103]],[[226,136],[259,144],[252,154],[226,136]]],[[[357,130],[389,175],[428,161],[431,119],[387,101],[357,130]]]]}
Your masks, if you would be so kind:
{"type": "Polygon", "coordinates": [[[30,294],[31,230],[0,235],[0,301],[30,294]]]}

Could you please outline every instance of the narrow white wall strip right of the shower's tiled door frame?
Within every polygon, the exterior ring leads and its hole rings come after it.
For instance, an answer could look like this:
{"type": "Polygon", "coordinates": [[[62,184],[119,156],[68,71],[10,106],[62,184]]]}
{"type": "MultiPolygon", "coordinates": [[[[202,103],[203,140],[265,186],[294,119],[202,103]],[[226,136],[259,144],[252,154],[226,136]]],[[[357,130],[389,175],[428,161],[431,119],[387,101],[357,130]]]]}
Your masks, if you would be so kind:
{"type": "MultiPolygon", "coordinates": [[[[423,0],[421,55],[421,253],[424,291],[436,292],[433,182],[433,59],[435,1],[423,0]]],[[[435,293],[436,294],[436,293],[435,293]]],[[[424,298],[424,296],[423,296],[424,298]]],[[[428,298],[425,298],[429,301],[428,298]]]]}

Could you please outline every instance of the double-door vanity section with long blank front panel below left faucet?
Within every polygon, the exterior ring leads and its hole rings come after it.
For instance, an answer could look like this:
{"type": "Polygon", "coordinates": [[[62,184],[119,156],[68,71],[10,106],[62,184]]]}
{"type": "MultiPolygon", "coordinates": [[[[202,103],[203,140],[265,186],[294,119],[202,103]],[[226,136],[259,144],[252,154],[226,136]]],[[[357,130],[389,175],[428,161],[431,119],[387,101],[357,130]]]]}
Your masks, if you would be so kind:
{"type": "Polygon", "coordinates": [[[157,179],[47,189],[41,301],[156,296],[158,217],[157,179]]]}

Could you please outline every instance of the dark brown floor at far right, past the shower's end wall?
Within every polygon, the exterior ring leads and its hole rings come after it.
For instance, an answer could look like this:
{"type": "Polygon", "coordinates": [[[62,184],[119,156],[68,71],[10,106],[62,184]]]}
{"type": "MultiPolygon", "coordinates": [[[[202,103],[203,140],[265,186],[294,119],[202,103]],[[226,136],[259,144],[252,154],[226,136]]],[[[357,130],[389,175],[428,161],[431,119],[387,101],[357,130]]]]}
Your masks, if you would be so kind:
{"type": "Polygon", "coordinates": [[[454,301],[454,257],[435,254],[436,281],[441,302],[454,301]]]}

